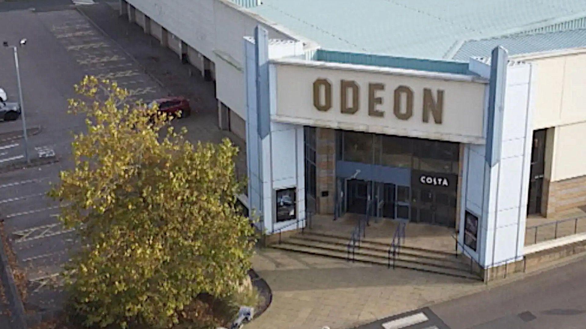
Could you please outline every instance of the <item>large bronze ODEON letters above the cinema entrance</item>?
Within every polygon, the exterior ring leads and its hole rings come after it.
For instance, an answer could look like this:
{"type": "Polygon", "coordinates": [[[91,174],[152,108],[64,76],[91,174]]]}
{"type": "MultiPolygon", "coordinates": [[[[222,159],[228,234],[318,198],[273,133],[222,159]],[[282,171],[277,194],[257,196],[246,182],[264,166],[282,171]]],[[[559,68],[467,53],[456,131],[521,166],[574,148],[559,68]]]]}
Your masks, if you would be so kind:
{"type": "Polygon", "coordinates": [[[394,90],[386,90],[384,83],[368,83],[360,86],[354,80],[340,80],[340,88],[337,91],[332,89],[332,83],[326,78],[318,78],[314,81],[314,107],[318,111],[327,112],[332,109],[332,97],[340,99],[340,113],[355,114],[363,107],[367,108],[369,116],[383,118],[386,115],[394,115],[397,119],[408,120],[413,116],[414,97],[423,99],[423,106],[418,109],[423,112],[423,122],[434,122],[441,125],[444,118],[444,90],[423,88],[414,91],[408,85],[399,85],[394,90]],[[360,99],[360,88],[366,88],[368,99],[360,99]],[[336,92],[336,95],[334,95],[336,92]],[[385,98],[390,98],[391,106],[384,106],[385,98]]]}

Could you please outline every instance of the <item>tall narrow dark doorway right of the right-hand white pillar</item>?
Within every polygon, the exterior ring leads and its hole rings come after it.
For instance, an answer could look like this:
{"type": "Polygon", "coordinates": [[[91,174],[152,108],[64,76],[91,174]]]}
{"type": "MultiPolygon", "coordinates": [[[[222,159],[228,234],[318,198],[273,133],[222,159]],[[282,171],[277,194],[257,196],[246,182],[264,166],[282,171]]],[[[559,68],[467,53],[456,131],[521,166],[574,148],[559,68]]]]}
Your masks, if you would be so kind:
{"type": "Polygon", "coordinates": [[[533,132],[531,150],[531,170],[529,173],[529,200],[527,214],[541,214],[541,195],[543,194],[543,174],[545,170],[547,129],[533,132]]]}

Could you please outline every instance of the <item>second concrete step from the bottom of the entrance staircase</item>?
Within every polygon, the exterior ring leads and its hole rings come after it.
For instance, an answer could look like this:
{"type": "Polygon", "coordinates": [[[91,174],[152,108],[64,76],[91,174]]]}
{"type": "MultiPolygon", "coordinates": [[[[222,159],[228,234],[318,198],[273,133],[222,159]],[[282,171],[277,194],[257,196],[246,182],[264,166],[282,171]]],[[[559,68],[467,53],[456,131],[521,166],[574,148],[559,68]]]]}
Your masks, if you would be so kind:
{"type": "MultiPolygon", "coordinates": [[[[309,248],[321,249],[324,251],[339,251],[348,253],[347,244],[341,244],[339,242],[323,241],[320,239],[312,239],[309,237],[291,237],[285,242],[291,245],[305,246],[309,248]]],[[[355,255],[369,256],[373,258],[381,259],[382,261],[389,261],[389,246],[386,249],[372,248],[366,244],[361,244],[360,247],[355,248],[355,255]]],[[[350,250],[351,252],[351,250],[350,250]]],[[[433,258],[428,256],[421,256],[417,253],[410,252],[408,249],[401,249],[397,255],[397,261],[415,263],[420,265],[433,266],[435,268],[450,269],[450,270],[462,270],[464,272],[469,271],[469,264],[460,262],[453,255],[447,258],[433,258]]]]}

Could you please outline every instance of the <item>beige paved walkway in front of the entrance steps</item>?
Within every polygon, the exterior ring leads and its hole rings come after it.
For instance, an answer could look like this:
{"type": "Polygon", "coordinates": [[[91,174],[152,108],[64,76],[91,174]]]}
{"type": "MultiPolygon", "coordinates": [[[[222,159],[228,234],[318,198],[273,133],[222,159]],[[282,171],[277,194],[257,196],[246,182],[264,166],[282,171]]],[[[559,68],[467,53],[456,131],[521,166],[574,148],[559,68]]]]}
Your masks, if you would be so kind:
{"type": "Polygon", "coordinates": [[[263,249],[253,267],[273,299],[247,328],[352,328],[484,289],[482,282],[263,249]]]}

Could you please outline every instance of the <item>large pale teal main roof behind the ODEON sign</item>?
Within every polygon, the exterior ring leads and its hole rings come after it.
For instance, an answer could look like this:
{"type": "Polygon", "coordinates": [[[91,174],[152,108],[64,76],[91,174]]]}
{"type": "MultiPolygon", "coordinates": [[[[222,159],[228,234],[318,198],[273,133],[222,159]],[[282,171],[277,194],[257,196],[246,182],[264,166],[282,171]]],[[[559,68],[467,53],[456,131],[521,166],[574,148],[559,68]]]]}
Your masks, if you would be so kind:
{"type": "Polygon", "coordinates": [[[586,0],[262,0],[248,10],[323,49],[444,59],[466,40],[580,20],[586,0]]]}

